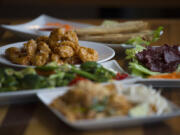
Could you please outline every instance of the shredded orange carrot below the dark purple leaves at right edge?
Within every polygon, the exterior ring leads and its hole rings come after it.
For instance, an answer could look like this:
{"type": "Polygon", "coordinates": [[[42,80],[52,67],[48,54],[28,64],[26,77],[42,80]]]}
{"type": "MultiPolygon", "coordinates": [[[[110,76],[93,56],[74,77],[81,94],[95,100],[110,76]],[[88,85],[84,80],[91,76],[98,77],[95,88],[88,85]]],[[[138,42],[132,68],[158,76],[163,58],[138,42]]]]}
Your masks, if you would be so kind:
{"type": "Polygon", "coordinates": [[[149,76],[150,79],[180,79],[180,72],[149,76]]]}

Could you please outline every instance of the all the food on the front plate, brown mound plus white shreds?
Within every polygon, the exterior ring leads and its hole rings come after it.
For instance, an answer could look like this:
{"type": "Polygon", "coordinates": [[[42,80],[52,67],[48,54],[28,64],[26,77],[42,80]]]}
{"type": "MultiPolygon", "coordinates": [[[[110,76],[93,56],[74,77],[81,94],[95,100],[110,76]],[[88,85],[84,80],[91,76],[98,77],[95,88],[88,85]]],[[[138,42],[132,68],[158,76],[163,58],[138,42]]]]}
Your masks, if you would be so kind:
{"type": "Polygon", "coordinates": [[[98,84],[79,81],[50,107],[75,122],[112,116],[147,117],[171,112],[159,92],[141,84],[98,84]]]}

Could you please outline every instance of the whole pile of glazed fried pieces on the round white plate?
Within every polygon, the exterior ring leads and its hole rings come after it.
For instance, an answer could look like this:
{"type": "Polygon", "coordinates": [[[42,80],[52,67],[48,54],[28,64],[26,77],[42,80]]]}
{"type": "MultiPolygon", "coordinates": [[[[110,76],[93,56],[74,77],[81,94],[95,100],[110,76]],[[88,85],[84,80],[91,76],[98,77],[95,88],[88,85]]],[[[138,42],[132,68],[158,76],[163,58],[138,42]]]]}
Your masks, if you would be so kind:
{"type": "Polygon", "coordinates": [[[49,62],[80,64],[97,61],[98,52],[92,48],[82,47],[75,32],[55,29],[49,37],[41,36],[29,40],[22,48],[10,47],[6,57],[16,64],[42,66],[49,62]]]}

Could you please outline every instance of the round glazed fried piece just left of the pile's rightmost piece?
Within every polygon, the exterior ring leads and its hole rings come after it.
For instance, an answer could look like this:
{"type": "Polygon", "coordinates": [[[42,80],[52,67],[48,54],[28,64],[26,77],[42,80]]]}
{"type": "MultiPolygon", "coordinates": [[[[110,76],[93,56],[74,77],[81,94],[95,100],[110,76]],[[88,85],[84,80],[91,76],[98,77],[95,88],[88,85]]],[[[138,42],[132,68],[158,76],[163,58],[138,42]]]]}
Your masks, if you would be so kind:
{"type": "Polygon", "coordinates": [[[55,48],[55,52],[62,58],[72,57],[74,51],[70,46],[59,46],[55,48]]]}

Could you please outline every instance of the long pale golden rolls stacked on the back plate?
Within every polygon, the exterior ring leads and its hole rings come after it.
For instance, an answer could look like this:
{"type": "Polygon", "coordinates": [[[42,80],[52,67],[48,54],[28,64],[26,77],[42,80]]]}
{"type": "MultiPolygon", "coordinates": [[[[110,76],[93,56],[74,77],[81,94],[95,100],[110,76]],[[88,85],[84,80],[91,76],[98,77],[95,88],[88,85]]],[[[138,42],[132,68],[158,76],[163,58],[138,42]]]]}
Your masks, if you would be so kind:
{"type": "Polygon", "coordinates": [[[129,44],[129,40],[135,37],[151,41],[156,31],[148,29],[148,23],[144,21],[116,22],[110,20],[104,21],[100,26],[75,29],[80,40],[116,44],[129,44]]]}

